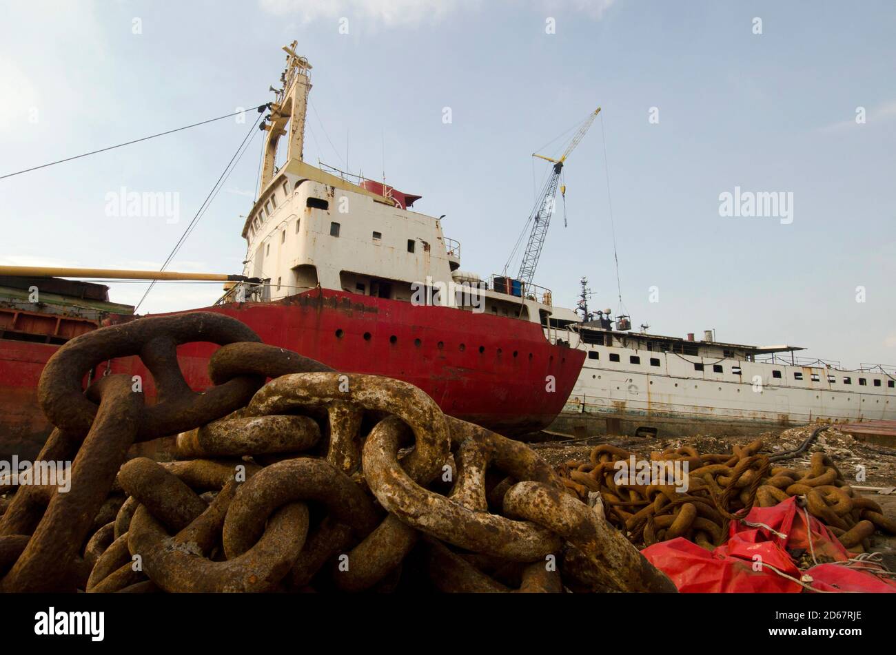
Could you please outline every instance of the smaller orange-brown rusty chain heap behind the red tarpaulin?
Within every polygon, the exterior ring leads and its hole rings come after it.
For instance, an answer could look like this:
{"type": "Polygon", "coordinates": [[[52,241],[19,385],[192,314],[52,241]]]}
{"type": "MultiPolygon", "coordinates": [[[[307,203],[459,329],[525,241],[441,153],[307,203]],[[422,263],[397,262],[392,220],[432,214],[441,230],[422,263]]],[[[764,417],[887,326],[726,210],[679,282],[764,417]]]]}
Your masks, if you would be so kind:
{"type": "Polygon", "coordinates": [[[808,469],[797,470],[772,466],[760,450],[762,441],[756,440],[727,455],[700,455],[687,446],[650,453],[651,462],[687,464],[680,487],[617,483],[616,463],[634,455],[609,445],[594,447],[590,461],[565,462],[557,472],[576,498],[587,502],[598,493],[607,520],[639,547],[684,537],[713,549],[728,539],[731,521],[744,519],[754,506],[775,506],[793,496],[805,497],[808,512],[852,553],[870,549],[876,530],[896,534],[896,522],[874,500],[854,492],[828,455],[816,452],[808,469]]]}

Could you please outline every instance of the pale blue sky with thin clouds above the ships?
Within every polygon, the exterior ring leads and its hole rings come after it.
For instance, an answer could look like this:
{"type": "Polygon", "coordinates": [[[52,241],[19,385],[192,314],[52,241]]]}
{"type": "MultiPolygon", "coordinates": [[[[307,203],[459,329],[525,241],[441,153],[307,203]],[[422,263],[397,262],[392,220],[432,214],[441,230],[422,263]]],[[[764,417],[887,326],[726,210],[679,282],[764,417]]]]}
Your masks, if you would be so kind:
{"type": "MultiPolygon", "coordinates": [[[[306,161],[422,195],[464,270],[501,272],[549,166],[531,154],[601,106],[535,276],[555,304],[587,276],[591,309],[656,334],[896,364],[892,1],[2,5],[0,175],[268,102],[295,39],[314,66],[306,161]],[[745,193],[781,204],[745,216],[745,193]]],[[[0,179],[0,264],[158,269],[256,116],[0,179]],[[123,215],[122,189],[177,216],[123,215]]],[[[242,272],[251,139],[169,270],[242,272]]],[[[140,310],[219,295],[158,285],[140,310]]]]}

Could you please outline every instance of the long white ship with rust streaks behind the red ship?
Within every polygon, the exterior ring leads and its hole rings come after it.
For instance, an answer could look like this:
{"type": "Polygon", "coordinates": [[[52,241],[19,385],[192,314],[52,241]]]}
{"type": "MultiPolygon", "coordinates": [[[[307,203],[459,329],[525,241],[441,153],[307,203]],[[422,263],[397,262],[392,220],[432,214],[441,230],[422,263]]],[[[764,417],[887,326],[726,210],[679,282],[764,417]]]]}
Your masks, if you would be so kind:
{"type": "Polygon", "coordinates": [[[844,370],[797,357],[799,346],[727,344],[711,330],[702,340],[632,332],[628,317],[613,321],[609,310],[588,321],[563,311],[545,326],[548,338],[587,358],[554,430],[747,435],[812,421],[896,419],[893,367],[844,370]]]}

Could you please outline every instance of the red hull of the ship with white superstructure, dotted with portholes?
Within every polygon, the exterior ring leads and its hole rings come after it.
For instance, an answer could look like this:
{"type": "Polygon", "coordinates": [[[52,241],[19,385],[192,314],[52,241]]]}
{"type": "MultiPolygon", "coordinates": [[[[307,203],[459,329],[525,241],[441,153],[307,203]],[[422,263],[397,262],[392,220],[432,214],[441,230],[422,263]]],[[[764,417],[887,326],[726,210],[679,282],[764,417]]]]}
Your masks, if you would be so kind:
{"type": "MultiPolygon", "coordinates": [[[[336,370],[410,382],[445,413],[510,436],[540,430],[554,420],[585,358],[581,351],[549,344],[541,327],[530,321],[356,293],[314,290],[278,302],[202,311],[239,319],[264,343],[336,370]]],[[[37,404],[37,383],[57,348],[0,339],[0,456],[33,456],[46,438],[49,426],[37,404]]],[[[216,348],[190,344],[178,349],[181,369],[194,389],[211,386],[206,367],[216,348]]],[[[108,368],[145,372],[134,357],[108,368]]],[[[146,391],[152,395],[150,384],[146,391]]]]}

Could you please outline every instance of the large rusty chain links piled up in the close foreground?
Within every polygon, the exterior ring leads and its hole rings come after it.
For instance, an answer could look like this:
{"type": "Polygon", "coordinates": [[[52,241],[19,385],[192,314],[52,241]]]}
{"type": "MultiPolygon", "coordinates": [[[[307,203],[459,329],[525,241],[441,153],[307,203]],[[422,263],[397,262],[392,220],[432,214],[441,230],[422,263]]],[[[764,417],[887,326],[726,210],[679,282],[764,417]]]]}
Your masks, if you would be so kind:
{"type": "Polygon", "coordinates": [[[0,591],[676,591],[529,447],[417,387],[258,342],[197,312],[63,346],[40,380],[56,430],[39,460],[73,461],[70,488],[0,506],[0,591]],[[222,346],[202,394],[177,364],[193,341],[222,346]],[[82,390],[130,355],[155,404],[125,375],[82,390]],[[176,434],[175,461],[126,461],[176,434]]]}

